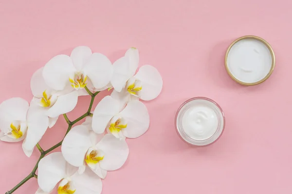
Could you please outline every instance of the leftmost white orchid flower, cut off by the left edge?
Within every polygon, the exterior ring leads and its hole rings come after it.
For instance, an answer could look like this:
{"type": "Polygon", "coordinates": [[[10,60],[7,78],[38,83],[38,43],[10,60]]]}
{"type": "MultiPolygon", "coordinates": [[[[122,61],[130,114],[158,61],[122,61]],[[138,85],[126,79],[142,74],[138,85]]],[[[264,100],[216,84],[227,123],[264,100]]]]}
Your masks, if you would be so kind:
{"type": "Polygon", "coordinates": [[[48,128],[49,119],[34,107],[29,107],[20,97],[10,98],[0,104],[0,140],[19,142],[25,155],[30,157],[48,128]]]}

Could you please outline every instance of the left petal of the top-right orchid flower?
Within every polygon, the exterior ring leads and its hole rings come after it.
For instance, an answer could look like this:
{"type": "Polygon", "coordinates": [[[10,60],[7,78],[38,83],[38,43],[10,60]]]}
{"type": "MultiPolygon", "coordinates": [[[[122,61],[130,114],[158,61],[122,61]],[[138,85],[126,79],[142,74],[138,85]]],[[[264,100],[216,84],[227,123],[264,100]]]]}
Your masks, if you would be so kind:
{"type": "Polygon", "coordinates": [[[112,67],[113,75],[110,83],[117,92],[121,92],[131,77],[128,57],[118,59],[112,64],[112,67]]]}

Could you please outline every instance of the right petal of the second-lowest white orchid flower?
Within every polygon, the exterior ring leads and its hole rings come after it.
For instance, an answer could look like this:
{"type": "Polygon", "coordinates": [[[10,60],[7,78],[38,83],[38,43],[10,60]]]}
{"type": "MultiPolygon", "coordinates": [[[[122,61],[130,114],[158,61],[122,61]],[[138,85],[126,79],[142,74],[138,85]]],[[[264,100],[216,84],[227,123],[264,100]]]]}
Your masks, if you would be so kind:
{"type": "Polygon", "coordinates": [[[111,134],[106,134],[96,147],[105,153],[103,160],[99,162],[104,170],[117,170],[126,162],[129,148],[125,140],[120,140],[111,134]]]}

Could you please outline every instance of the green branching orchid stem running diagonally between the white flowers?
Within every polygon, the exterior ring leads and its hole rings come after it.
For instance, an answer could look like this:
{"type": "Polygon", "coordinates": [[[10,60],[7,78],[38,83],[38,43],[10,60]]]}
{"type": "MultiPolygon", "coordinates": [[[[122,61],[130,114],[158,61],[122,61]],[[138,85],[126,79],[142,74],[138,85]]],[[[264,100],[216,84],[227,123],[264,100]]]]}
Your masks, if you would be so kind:
{"type": "MultiPolygon", "coordinates": [[[[84,113],[83,115],[81,115],[80,117],[76,118],[75,120],[73,121],[70,121],[67,114],[63,114],[66,122],[68,123],[68,128],[67,128],[67,131],[66,131],[66,134],[65,136],[67,135],[67,133],[71,130],[71,128],[73,127],[74,124],[76,124],[78,121],[84,119],[85,117],[87,116],[92,116],[92,113],[91,113],[91,108],[92,108],[92,105],[93,105],[93,102],[94,102],[94,98],[95,96],[99,93],[99,92],[95,92],[95,93],[92,93],[86,86],[85,86],[85,90],[88,92],[88,94],[91,96],[91,101],[90,101],[90,105],[89,105],[89,108],[87,110],[86,113],[84,113]]],[[[64,138],[65,138],[64,136],[64,138]]],[[[63,138],[63,140],[64,140],[63,138]]],[[[37,175],[36,175],[36,172],[37,172],[37,167],[38,167],[38,163],[39,161],[45,157],[45,155],[47,155],[49,152],[53,151],[55,148],[59,147],[62,145],[62,141],[60,141],[59,143],[57,143],[55,146],[52,146],[51,148],[47,149],[46,151],[44,151],[41,146],[39,144],[37,144],[37,149],[39,150],[40,152],[40,156],[37,160],[37,163],[34,167],[34,169],[32,170],[32,172],[26,177],[24,178],[23,180],[21,180],[13,189],[11,189],[10,191],[7,191],[5,194],[12,194],[13,192],[15,192],[21,185],[23,185],[24,183],[26,183],[29,179],[31,178],[37,178],[37,175]]]]}

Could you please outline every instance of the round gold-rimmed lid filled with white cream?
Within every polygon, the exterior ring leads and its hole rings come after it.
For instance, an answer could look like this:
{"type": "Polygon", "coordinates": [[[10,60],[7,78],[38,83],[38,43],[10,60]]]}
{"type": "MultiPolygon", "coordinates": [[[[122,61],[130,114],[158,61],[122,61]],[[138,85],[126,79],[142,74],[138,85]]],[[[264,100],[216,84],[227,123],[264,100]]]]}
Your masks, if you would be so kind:
{"type": "Polygon", "coordinates": [[[275,66],[272,47],[257,36],[237,38],[226,51],[225,68],[229,76],[242,85],[266,81],[275,66]]]}

